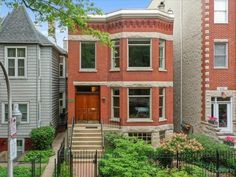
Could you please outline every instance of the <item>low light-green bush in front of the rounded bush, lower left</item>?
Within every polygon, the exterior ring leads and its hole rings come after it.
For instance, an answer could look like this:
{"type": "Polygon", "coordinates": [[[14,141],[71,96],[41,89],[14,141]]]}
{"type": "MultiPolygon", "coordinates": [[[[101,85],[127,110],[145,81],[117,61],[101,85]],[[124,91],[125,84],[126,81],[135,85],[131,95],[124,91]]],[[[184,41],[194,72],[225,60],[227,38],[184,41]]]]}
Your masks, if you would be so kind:
{"type": "Polygon", "coordinates": [[[41,158],[42,163],[47,163],[49,160],[49,157],[53,156],[55,152],[52,149],[49,150],[32,150],[26,153],[23,161],[24,162],[31,162],[33,160],[38,160],[41,158]]]}

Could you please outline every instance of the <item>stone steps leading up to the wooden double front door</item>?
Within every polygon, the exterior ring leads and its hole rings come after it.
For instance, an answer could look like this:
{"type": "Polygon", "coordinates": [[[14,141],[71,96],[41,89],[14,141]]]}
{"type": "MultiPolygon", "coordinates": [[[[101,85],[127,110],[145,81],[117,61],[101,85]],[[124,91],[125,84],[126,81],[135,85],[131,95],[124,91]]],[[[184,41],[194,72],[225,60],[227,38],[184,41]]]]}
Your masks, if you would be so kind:
{"type": "Polygon", "coordinates": [[[92,159],[96,151],[100,157],[103,152],[101,125],[76,124],[72,136],[72,153],[74,159],[78,161],[81,159],[92,159]]]}

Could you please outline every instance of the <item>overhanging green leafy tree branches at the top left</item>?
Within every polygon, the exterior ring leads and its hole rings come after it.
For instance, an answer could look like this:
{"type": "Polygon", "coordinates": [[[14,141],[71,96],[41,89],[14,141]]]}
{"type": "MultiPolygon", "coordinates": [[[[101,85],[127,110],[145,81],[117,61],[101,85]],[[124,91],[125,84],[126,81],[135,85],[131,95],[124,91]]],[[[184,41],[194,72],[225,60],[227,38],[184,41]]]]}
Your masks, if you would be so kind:
{"type": "Polygon", "coordinates": [[[67,26],[75,31],[79,27],[83,33],[98,38],[102,43],[113,46],[109,34],[88,26],[89,16],[102,15],[102,11],[90,0],[2,0],[8,7],[24,5],[40,17],[40,21],[58,21],[60,27],[67,26]]]}

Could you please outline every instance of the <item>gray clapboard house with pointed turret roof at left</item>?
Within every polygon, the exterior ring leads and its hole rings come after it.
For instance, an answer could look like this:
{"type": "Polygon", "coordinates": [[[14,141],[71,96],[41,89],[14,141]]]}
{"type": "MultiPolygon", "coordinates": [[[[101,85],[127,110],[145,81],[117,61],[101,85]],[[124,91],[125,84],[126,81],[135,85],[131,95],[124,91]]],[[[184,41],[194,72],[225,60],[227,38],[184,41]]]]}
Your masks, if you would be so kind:
{"type": "MultiPolygon", "coordinates": [[[[31,129],[60,123],[66,112],[67,53],[34,26],[26,9],[14,9],[0,25],[0,61],[11,84],[12,102],[22,112],[19,151],[30,147],[31,129]]],[[[7,150],[7,89],[0,70],[0,152],[7,150]]],[[[19,152],[20,153],[20,152],[19,152]]]]}

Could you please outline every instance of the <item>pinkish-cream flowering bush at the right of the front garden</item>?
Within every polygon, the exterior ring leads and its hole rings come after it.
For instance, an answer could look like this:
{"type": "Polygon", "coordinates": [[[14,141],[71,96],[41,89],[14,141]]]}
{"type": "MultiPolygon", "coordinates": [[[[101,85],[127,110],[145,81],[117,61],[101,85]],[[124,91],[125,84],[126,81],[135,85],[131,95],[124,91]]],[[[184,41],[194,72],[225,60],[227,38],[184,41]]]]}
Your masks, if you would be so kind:
{"type": "Polygon", "coordinates": [[[187,135],[179,133],[173,134],[171,138],[165,139],[160,148],[176,154],[186,152],[199,152],[204,150],[201,143],[195,139],[188,138],[187,135]]]}

